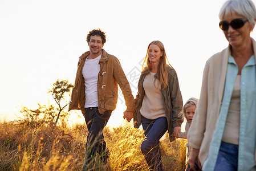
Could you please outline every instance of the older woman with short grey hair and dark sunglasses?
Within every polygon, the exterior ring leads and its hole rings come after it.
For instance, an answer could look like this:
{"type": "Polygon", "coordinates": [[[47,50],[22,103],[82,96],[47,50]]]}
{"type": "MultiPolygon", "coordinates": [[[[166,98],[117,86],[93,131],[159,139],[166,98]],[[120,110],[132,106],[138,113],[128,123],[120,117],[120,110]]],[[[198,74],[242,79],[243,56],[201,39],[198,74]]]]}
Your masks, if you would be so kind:
{"type": "Polygon", "coordinates": [[[200,100],[188,132],[191,169],[256,170],[256,22],[251,0],[229,0],[220,10],[229,47],[205,65],[200,100]]]}

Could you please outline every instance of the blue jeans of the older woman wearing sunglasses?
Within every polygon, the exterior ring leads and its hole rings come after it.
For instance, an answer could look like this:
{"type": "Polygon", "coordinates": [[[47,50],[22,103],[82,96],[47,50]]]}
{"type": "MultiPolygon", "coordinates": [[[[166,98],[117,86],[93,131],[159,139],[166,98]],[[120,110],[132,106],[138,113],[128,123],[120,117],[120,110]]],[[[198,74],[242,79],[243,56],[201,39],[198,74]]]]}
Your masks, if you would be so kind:
{"type": "Polygon", "coordinates": [[[238,166],[238,145],[221,142],[214,170],[232,171],[238,166]]]}

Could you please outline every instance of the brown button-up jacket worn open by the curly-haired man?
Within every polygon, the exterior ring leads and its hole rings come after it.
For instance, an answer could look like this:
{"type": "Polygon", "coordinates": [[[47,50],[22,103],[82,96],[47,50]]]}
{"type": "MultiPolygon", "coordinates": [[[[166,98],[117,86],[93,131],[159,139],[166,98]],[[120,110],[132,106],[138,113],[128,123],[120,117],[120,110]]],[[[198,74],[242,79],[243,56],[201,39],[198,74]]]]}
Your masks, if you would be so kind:
{"type": "MultiPolygon", "coordinates": [[[[79,57],[78,71],[76,72],[75,86],[72,90],[71,101],[68,111],[72,109],[81,110],[84,114],[84,104],[86,103],[84,78],[82,70],[84,62],[90,51],[85,52],[79,57]]],[[[116,108],[118,86],[123,92],[125,105],[127,105],[127,111],[133,111],[135,104],[133,103],[133,95],[129,82],[124,74],[119,60],[113,56],[107,54],[105,50],[102,50],[101,59],[99,61],[100,71],[97,80],[97,96],[99,113],[104,113],[107,110],[113,111],[116,108]]]]}

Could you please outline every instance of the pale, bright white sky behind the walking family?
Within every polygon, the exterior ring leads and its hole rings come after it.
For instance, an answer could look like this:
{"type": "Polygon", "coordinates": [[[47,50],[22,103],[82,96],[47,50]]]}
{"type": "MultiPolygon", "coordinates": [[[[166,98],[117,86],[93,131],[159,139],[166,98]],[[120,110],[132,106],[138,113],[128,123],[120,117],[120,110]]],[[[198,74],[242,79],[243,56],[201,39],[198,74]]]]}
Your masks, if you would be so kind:
{"type": "MultiPolygon", "coordinates": [[[[184,103],[199,98],[206,60],[228,45],[218,27],[224,2],[1,0],[0,121],[15,120],[21,105],[46,104],[56,79],[74,83],[78,58],[89,50],[86,36],[94,28],[105,31],[103,48],[120,60],[133,95],[148,44],[160,40],[177,72],[184,103]]],[[[256,37],[254,32],[251,36],[256,37]]],[[[109,125],[122,123],[123,100],[109,125]]],[[[78,121],[75,116],[70,120],[78,121]]]]}

